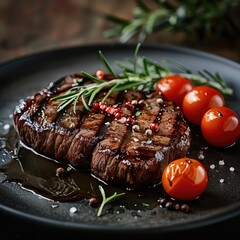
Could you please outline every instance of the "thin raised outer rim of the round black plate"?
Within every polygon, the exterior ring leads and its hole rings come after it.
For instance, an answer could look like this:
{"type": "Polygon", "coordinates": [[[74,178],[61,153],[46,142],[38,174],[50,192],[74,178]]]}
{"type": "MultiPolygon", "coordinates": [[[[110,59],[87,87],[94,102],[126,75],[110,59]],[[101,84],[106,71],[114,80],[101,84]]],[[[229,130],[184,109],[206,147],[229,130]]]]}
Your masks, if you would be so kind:
{"type": "MultiPolygon", "coordinates": [[[[11,65],[14,64],[19,64],[21,62],[25,62],[25,61],[30,61],[33,58],[42,58],[45,57],[46,55],[55,55],[57,54],[62,54],[63,52],[68,52],[68,51],[74,51],[76,49],[80,50],[83,48],[88,48],[91,49],[91,51],[93,51],[94,49],[101,49],[101,48],[113,48],[115,49],[115,51],[118,50],[119,47],[124,47],[124,48],[128,48],[128,49],[135,49],[136,44],[134,43],[128,43],[128,44],[123,44],[123,43],[100,43],[100,44],[85,44],[85,45],[77,45],[77,46],[70,46],[70,47],[64,47],[64,48],[56,48],[56,49],[50,49],[50,50],[44,50],[44,51],[40,51],[40,52],[35,52],[35,53],[31,53],[31,54],[27,54],[25,56],[21,56],[21,57],[17,57],[15,59],[11,59],[8,60],[6,62],[3,62],[0,64],[0,76],[1,76],[1,72],[2,72],[2,68],[8,68],[11,65]]],[[[182,47],[182,46],[176,46],[176,45],[170,45],[170,44],[142,44],[141,48],[145,49],[147,51],[147,49],[165,49],[165,50],[171,50],[171,51],[180,51],[180,52],[184,52],[184,53],[189,53],[191,55],[196,55],[196,56],[201,56],[204,58],[210,58],[210,60],[214,60],[214,61],[219,61],[219,62],[226,62],[228,64],[230,64],[233,67],[237,67],[240,69],[240,64],[234,60],[231,60],[229,58],[220,56],[220,55],[216,55],[213,53],[209,53],[209,52],[205,52],[202,50],[198,50],[198,49],[193,49],[193,48],[188,48],[188,47],[182,47]]],[[[97,55],[97,54],[96,54],[97,55]]],[[[179,224],[175,224],[175,225],[171,225],[169,227],[158,227],[158,229],[155,229],[157,227],[154,228],[149,228],[149,229],[143,229],[144,232],[148,232],[148,231],[156,231],[157,233],[164,233],[164,232],[168,232],[168,231],[177,231],[177,230],[187,230],[189,228],[198,228],[198,227],[203,227],[209,224],[214,224],[214,223],[218,223],[218,222],[222,222],[224,220],[228,220],[230,218],[236,217],[236,216],[240,216],[240,204],[235,204],[234,207],[230,208],[228,214],[226,214],[225,212],[223,213],[216,213],[211,217],[206,217],[205,220],[201,219],[197,219],[194,221],[191,221],[191,226],[188,226],[187,224],[189,223],[179,223],[179,224]],[[239,205],[239,206],[235,206],[235,205],[239,205]],[[237,210],[237,211],[236,211],[237,210]],[[176,226],[177,225],[177,226],[176,226]]],[[[18,217],[23,217],[25,219],[28,220],[32,220],[34,219],[35,221],[38,221],[41,224],[51,224],[51,226],[55,226],[55,227],[64,227],[66,229],[73,229],[73,230],[86,230],[88,229],[89,225],[87,224],[79,224],[79,223],[73,223],[73,222],[69,222],[69,221],[62,221],[62,220],[55,220],[55,219],[46,219],[45,217],[42,216],[36,216],[33,214],[29,214],[29,213],[24,213],[22,211],[19,211],[17,209],[12,209],[10,207],[4,206],[2,205],[2,203],[0,203],[0,210],[5,211],[7,213],[10,213],[11,215],[15,215],[17,214],[18,217]],[[81,227],[80,227],[81,226],[81,227]],[[87,227],[88,226],[88,227],[87,227]]],[[[114,226],[110,226],[109,227],[109,231],[119,231],[119,230],[123,230],[127,231],[129,233],[131,232],[138,232],[141,231],[140,229],[127,229],[125,227],[123,228],[119,228],[119,227],[114,227],[114,226]]],[[[106,227],[102,227],[99,225],[94,225],[94,227],[90,227],[88,230],[91,231],[106,231],[106,227]]],[[[143,231],[141,231],[143,232],[143,231]]],[[[149,233],[150,233],[149,232],[149,233]]]]}

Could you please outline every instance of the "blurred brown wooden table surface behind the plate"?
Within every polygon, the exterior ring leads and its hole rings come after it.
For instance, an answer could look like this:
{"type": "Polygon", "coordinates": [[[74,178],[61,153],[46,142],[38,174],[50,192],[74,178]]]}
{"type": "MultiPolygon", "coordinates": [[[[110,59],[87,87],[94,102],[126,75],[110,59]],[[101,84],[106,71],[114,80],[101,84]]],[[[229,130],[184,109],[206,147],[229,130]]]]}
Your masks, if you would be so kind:
{"type": "MultiPolygon", "coordinates": [[[[104,14],[129,19],[135,6],[134,0],[1,0],[0,63],[49,49],[119,41],[104,36],[113,26],[104,14]]],[[[190,47],[240,62],[236,39],[199,42],[182,33],[163,31],[145,42],[190,47]]]]}

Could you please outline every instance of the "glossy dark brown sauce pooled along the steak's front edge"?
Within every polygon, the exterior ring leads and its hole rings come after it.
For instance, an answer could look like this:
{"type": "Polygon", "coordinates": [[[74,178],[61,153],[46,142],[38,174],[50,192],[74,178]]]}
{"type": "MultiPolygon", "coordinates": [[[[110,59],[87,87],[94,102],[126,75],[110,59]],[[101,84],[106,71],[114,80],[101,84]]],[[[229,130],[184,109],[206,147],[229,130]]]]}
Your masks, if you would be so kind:
{"type": "Polygon", "coordinates": [[[106,196],[124,192],[124,197],[118,199],[118,202],[128,209],[152,209],[165,196],[161,184],[141,190],[121,188],[102,182],[89,169],[76,170],[70,165],[40,156],[20,144],[13,128],[10,128],[5,138],[3,149],[9,155],[9,159],[0,164],[4,181],[17,182],[23,188],[51,200],[72,202],[94,197],[100,202],[102,197],[99,185],[104,188],[106,196]],[[60,168],[64,171],[58,174],[60,168]]]}

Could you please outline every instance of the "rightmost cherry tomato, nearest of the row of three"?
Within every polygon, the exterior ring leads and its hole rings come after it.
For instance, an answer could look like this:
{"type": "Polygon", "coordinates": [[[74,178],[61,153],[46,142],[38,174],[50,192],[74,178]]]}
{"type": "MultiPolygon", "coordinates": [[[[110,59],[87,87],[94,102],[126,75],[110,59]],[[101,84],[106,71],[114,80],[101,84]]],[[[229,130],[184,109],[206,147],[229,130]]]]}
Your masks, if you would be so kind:
{"type": "Polygon", "coordinates": [[[228,107],[211,108],[202,118],[201,132],[211,145],[230,146],[240,137],[240,118],[228,107]]]}

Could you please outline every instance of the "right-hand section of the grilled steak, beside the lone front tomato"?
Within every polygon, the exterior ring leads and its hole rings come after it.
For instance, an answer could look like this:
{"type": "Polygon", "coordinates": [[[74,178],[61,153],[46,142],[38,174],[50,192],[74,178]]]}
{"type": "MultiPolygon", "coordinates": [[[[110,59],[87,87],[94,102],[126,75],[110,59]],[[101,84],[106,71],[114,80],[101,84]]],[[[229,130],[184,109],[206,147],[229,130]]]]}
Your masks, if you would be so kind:
{"type": "Polygon", "coordinates": [[[100,179],[134,188],[160,183],[163,169],[187,154],[191,140],[179,107],[158,93],[142,93],[136,99],[139,95],[128,91],[123,98],[122,112],[127,117],[135,115],[133,125],[112,121],[91,162],[92,172],[100,179]],[[126,111],[124,102],[132,100],[145,105],[126,111]]]}

